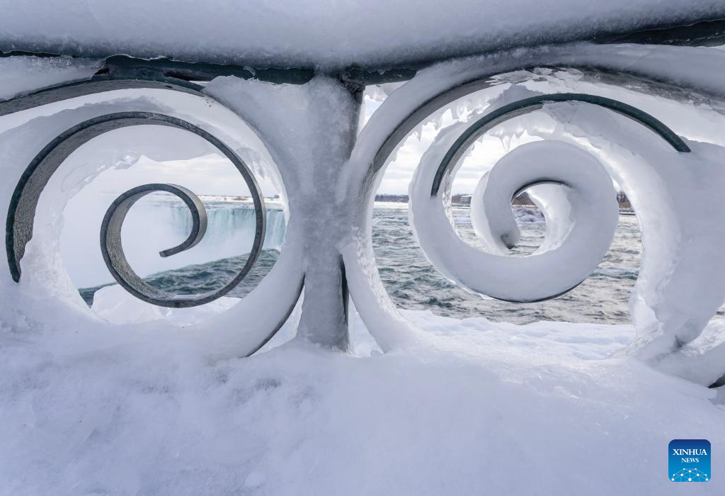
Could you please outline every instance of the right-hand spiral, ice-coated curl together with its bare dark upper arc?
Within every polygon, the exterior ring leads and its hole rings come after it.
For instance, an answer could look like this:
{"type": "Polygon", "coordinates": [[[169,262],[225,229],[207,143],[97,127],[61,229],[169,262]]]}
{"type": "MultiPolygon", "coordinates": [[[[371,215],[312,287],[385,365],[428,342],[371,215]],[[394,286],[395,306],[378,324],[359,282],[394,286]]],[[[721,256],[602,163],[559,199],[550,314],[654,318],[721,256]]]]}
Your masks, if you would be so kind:
{"type": "Polygon", "coordinates": [[[602,164],[562,141],[539,141],[505,155],[479,182],[471,219],[485,251],[465,243],[452,226],[446,201],[460,161],[487,131],[547,103],[581,102],[613,110],[649,128],[676,152],[684,141],[655,117],[630,105],[588,94],[544,94],[502,105],[475,122],[441,133],[423,155],[410,186],[410,223],[431,263],[444,276],[479,294],[510,302],[558,297],[589,276],[607,252],[617,223],[616,193],[602,164]],[[576,162],[576,167],[567,167],[576,162]],[[545,185],[545,186],[544,186],[545,185]],[[510,202],[534,187],[547,220],[544,244],[532,255],[508,257],[519,231],[510,202]]]}

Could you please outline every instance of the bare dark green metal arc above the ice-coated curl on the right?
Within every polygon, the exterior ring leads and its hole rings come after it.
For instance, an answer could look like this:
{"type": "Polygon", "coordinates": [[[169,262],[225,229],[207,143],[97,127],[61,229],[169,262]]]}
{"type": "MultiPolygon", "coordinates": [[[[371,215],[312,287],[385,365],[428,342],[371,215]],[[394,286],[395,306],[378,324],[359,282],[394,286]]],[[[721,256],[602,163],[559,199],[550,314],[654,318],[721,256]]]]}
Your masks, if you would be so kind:
{"type": "Polygon", "coordinates": [[[438,170],[436,170],[436,175],[431,186],[431,197],[438,195],[443,178],[452,167],[455,167],[465,151],[469,146],[471,146],[471,144],[473,144],[474,141],[500,123],[512,119],[513,117],[517,117],[518,115],[527,114],[540,109],[544,107],[544,104],[552,102],[582,102],[613,110],[618,114],[629,117],[631,120],[650,128],[678,152],[687,153],[690,151],[689,146],[685,144],[682,138],[677,136],[674,131],[660,122],[660,120],[655,119],[655,117],[647,114],[647,112],[643,112],[636,107],[619,102],[618,100],[605,98],[604,96],[582,93],[555,93],[531,96],[531,98],[519,100],[518,102],[513,102],[497,108],[484,115],[484,117],[481,117],[479,120],[476,120],[475,123],[466,128],[463,134],[461,134],[452,144],[441,160],[441,164],[438,166],[438,170]]]}

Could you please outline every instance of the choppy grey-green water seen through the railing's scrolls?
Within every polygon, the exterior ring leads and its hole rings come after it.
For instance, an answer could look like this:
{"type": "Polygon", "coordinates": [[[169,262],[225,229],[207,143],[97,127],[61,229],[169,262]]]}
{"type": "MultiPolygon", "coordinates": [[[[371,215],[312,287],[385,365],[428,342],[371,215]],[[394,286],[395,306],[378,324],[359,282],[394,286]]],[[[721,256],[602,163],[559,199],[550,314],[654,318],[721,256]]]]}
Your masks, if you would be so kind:
{"type": "MultiPolygon", "coordinates": [[[[373,247],[386,289],[399,307],[431,310],[457,318],[484,316],[493,321],[629,323],[629,294],[637,279],[641,242],[637,218],[621,216],[608,254],[592,276],[562,297],[539,303],[508,303],[481,297],[447,281],[413,239],[407,205],[378,207],[373,213],[373,247]]],[[[460,236],[477,244],[467,208],[455,208],[460,236]]],[[[538,212],[520,210],[521,241],[513,255],[533,252],[541,244],[545,224],[538,212]]],[[[279,233],[268,231],[268,236],[279,233]]],[[[243,297],[272,268],[278,253],[266,249],[251,273],[229,296],[243,297]]],[[[177,294],[206,292],[223,285],[247,260],[247,255],[167,270],[146,278],[159,289],[177,294]]],[[[97,288],[80,290],[86,302],[97,288]]]]}

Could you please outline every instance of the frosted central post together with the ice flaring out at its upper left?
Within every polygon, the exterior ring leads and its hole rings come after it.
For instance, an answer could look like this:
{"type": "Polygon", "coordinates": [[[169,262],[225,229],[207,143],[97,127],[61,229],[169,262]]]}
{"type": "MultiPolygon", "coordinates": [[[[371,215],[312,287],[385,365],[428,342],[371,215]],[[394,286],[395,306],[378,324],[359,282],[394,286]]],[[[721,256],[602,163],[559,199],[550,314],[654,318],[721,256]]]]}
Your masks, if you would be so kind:
{"type": "Polygon", "coordinates": [[[362,188],[350,189],[345,168],[357,141],[362,89],[319,74],[301,85],[222,79],[205,89],[257,131],[281,173],[290,212],[283,249],[299,252],[305,274],[298,339],[340,350],[349,343],[340,249],[362,188]],[[355,197],[341,199],[341,191],[355,197]]]}

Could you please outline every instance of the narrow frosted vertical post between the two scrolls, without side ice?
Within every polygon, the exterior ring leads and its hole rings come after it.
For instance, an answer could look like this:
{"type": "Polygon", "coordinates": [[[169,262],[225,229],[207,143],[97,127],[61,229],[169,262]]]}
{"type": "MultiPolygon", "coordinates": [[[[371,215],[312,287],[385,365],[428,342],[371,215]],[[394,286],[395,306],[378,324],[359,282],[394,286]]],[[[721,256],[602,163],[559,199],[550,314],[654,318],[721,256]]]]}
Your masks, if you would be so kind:
{"type": "Polygon", "coordinates": [[[299,181],[287,183],[291,223],[304,239],[305,297],[297,335],[347,350],[347,281],[339,249],[349,235],[356,200],[337,198],[347,188],[341,173],[357,139],[362,95],[320,77],[312,80],[308,95],[305,121],[316,129],[305,132],[310,152],[295,157],[299,181]]]}

